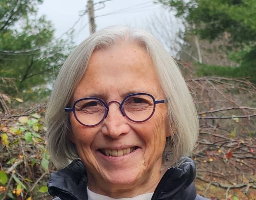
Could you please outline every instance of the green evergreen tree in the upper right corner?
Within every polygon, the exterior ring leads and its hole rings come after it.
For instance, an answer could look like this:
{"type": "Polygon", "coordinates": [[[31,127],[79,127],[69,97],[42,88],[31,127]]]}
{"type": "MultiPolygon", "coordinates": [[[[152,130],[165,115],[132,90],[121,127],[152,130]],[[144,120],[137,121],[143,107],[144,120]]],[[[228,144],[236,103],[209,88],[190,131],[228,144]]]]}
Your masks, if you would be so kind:
{"type": "MultiPolygon", "coordinates": [[[[226,52],[230,59],[238,63],[237,68],[229,68],[234,77],[251,76],[256,82],[256,62],[254,57],[256,42],[256,0],[158,0],[166,8],[176,11],[186,23],[187,31],[198,34],[201,39],[213,41],[226,35],[226,52]],[[239,59],[238,59],[239,58],[239,59]]],[[[203,65],[204,67],[205,65],[203,65]]],[[[225,76],[225,69],[204,71],[225,76]]]]}

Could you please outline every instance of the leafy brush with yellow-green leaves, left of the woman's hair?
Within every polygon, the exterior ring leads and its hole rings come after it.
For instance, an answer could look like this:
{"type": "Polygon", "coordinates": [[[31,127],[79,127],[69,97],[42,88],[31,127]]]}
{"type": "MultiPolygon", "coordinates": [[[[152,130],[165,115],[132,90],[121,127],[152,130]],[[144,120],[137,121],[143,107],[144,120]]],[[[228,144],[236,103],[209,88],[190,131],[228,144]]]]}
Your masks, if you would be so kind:
{"type": "Polygon", "coordinates": [[[38,112],[25,115],[16,113],[20,117],[10,121],[0,120],[3,122],[0,126],[2,139],[0,147],[3,152],[0,154],[3,169],[0,171],[0,187],[11,199],[18,199],[21,195],[27,196],[24,199],[30,197],[30,199],[40,199],[37,198],[38,195],[47,193],[46,182],[49,179],[50,157],[46,151],[44,112],[45,110],[40,108],[38,112]],[[8,146],[5,145],[6,141],[8,146]],[[15,169],[11,169],[14,164],[15,169]],[[45,174],[43,178],[42,174],[45,174]],[[37,180],[40,181],[32,191],[29,190],[37,180]],[[8,182],[10,184],[7,187],[8,182]]]}

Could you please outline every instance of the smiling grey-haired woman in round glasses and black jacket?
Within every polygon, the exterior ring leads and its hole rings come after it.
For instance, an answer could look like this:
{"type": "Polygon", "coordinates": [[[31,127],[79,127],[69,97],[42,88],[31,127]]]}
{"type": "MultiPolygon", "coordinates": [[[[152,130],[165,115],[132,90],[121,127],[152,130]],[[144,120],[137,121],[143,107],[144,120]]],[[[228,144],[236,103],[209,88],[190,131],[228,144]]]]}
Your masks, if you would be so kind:
{"type": "Polygon", "coordinates": [[[177,64],[144,30],[107,27],[78,45],[46,122],[51,159],[64,168],[48,182],[56,199],[204,199],[195,164],[181,157],[198,135],[195,105],[177,64]]]}

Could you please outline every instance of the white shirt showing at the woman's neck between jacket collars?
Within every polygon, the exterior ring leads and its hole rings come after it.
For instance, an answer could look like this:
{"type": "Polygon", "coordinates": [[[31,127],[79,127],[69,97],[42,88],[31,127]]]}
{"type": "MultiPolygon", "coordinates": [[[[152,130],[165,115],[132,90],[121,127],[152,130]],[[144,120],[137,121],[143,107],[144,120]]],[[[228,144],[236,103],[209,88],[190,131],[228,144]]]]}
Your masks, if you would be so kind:
{"type": "Polygon", "coordinates": [[[88,195],[88,200],[150,200],[153,196],[152,193],[146,193],[146,194],[141,194],[139,196],[131,197],[131,198],[120,198],[120,199],[115,199],[109,196],[97,194],[93,191],[90,191],[87,186],[87,195],[88,195]]]}

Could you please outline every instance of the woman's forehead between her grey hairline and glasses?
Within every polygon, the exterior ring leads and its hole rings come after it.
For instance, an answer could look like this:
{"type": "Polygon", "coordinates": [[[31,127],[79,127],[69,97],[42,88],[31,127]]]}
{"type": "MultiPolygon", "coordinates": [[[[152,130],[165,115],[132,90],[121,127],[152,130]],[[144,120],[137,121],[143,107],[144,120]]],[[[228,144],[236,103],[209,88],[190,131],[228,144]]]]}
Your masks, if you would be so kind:
{"type": "Polygon", "coordinates": [[[152,60],[144,48],[134,44],[118,44],[93,52],[75,94],[151,92],[160,90],[152,60]]]}

